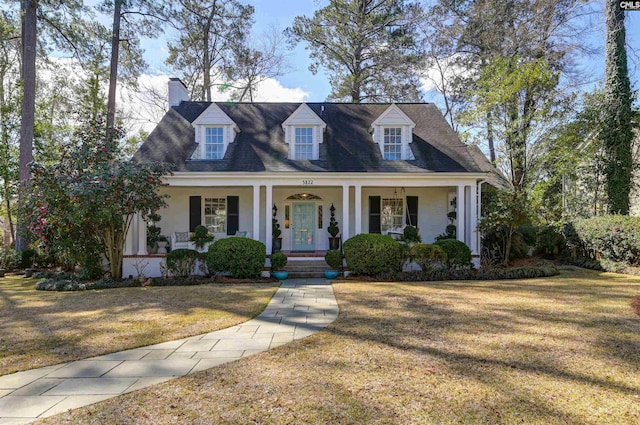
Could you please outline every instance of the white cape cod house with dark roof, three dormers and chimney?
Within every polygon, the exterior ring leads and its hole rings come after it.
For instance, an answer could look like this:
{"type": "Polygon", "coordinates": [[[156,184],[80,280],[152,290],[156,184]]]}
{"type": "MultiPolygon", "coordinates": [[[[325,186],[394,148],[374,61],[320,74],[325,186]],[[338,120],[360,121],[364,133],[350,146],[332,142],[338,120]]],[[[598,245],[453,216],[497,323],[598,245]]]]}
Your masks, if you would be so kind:
{"type": "MultiPolygon", "coordinates": [[[[188,246],[202,224],[216,239],[260,240],[270,254],[275,212],[283,251],[321,256],[333,206],[342,241],[413,225],[431,243],[452,223],[479,257],[479,193],[491,165],[433,104],[193,102],[171,79],[169,110],[133,160],[175,165],[158,224],[172,248],[188,246]]],[[[125,276],[141,258],[159,264],[146,223],[134,220],[125,276]]],[[[154,264],[147,276],[159,273],[154,264]]]]}

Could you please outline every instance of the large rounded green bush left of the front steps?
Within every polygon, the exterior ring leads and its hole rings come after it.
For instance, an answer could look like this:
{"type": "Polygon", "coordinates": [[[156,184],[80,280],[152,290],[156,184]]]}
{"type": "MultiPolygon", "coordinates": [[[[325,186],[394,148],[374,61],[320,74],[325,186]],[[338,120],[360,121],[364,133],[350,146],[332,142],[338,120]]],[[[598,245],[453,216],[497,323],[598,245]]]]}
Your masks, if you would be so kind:
{"type": "Polygon", "coordinates": [[[240,279],[260,277],[267,248],[260,241],[231,237],[214,242],[207,253],[209,272],[230,272],[240,279]]]}

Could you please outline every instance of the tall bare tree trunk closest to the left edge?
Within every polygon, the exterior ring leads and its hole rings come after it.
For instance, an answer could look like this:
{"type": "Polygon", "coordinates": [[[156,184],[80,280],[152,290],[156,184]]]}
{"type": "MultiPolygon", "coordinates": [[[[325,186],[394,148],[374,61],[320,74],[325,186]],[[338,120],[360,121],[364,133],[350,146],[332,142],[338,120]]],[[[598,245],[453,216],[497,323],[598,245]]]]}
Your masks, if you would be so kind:
{"type": "MultiPolygon", "coordinates": [[[[20,125],[20,188],[18,204],[23,201],[24,186],[29,181],[29,163],[33,161],[33,134],[36,103],[37,0],[22,0],[22,120],[20,125]]],[[[16,251],[23,251],[28,240],[24,224],[18,222],[16,251]]]]}

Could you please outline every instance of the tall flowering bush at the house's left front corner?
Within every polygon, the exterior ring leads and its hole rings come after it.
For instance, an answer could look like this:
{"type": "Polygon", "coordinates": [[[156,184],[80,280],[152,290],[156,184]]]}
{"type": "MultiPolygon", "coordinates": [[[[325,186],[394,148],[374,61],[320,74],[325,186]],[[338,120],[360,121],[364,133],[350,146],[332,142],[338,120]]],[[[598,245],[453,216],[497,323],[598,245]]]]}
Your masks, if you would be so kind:
{"type": "Polygon", "coordinates": [[[104,253],[114,278],[122,276],[133,216],[147,218],[166,206],[166,195],[158,188],[162,176],[170,173],[166,164],[116,159],[121,136],[116,129],[106,137],[102,123],[78,130],[60,162],[31,164],[23,205],[29,230],[45,249],[70,254],[73,262],[92,268],[100,267],[96,260],[104,253]]]}

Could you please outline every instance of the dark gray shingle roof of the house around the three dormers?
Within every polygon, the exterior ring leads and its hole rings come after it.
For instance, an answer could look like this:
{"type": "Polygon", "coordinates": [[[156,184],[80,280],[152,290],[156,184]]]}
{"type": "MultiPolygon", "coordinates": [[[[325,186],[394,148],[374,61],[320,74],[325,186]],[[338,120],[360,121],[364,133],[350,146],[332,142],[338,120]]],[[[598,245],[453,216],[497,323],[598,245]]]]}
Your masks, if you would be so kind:
{"type": "Polygon", "coordinates": [[[369,133],[390,104],[307,103],[327,124],[318,160],[287,158],[282,123],[300,103],[216,104],[240,132],[222,160],[190,160],[197,147],[191,123],[209,102],[182,102],[170,109],[149,135],[134,160],[175,164],[176,171],[268,172],[485,172],[486,157],[470,152],[433,104],[397,106],[416,123],[411,149],[415,160],[385,161],[369,133]],[[323,108],[324,107],[324,108],[323,108]]]}

